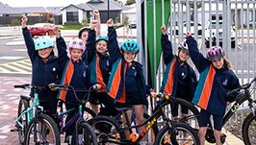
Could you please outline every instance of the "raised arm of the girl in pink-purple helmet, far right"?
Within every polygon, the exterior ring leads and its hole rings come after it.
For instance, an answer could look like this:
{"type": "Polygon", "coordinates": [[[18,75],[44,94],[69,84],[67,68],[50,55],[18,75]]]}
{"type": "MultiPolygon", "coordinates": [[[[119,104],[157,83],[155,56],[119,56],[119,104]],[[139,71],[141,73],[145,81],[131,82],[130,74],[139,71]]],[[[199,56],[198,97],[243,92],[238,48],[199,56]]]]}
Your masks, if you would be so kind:
{"type": "Polygon", "coordinates": [[[199,52],[197,41],[191,36],[190,32],[186,34],[186,38],[192,62],[194,63],[199,73],[201,73],[206,67],[210,65],[210,61],[204,58],[203,55],[199,52]]]}

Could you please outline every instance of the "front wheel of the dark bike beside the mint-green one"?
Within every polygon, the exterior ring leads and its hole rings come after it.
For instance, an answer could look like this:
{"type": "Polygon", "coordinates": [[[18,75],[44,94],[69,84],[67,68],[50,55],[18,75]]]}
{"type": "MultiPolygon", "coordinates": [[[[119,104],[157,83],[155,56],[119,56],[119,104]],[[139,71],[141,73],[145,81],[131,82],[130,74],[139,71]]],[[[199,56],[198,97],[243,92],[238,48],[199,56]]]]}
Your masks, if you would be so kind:
{"type": "Polygon", "coordinates": [[[79,141],[79,139],[76,140],[76,136],[75,136],[76,134],[74,132],[72,134],[72,140],[71,140],[72,145],[77,145],[77,144],[98,145],[96,133],[94,133],[93,128],[87,122],[82,122],[79,124],[78,133],[79,135],[82,136],[81,142],[79,141]]]}

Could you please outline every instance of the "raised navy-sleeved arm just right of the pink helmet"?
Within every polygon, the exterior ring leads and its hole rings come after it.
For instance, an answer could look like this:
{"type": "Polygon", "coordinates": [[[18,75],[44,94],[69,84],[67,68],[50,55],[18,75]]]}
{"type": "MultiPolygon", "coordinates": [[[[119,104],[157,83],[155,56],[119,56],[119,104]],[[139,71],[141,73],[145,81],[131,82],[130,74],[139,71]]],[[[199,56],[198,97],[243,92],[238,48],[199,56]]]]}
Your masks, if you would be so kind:
{"type": "Polygon", "coordinates": [[[88,62],[93,60],[94,56],[96,55],[96,48],[95,48],[96,35],[95,35],[94,28],[96,27],[97,23],[98,22],[96,20],[93,20],[90,24],[90,31],[88,33],[88,41],[87,41],[87,50],[83,54],[83,60],[87,59],[88,62]],[[85,57],[88,57],[88,58],[85,58],[85,57]]]}

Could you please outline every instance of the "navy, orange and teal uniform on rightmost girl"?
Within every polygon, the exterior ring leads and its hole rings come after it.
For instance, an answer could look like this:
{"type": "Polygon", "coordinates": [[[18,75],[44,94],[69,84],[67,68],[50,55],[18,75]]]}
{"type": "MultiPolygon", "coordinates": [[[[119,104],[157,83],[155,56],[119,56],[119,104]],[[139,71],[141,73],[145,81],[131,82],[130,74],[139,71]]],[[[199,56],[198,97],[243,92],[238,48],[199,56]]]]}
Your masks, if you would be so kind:
{"type": "MultiPolygon", "coordinates": [[[[198,51],[197,42],[192,36],[187,37],[187,43],[192,61],[200,73],[192,103],[203,111],[206,110],[210,114],[222,118],[225,113],[226,102],[230,101],[226,97],[226,93],[239,87],[239,79],[225,64],[222,68],[217,69],[212,61],[204,58],[198,51]]],[[[219,124],[222,125],[222,122],[219,124]]],[[[220,129],[221,125],[218,125],[220,129]]]]}

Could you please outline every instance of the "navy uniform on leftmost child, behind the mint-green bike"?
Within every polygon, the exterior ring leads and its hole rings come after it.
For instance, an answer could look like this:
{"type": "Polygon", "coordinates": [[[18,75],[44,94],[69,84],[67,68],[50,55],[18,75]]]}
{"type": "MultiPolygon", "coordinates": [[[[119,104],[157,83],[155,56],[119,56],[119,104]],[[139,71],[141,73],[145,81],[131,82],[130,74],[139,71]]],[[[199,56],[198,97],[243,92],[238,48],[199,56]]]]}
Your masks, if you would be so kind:
{"type": "MultiPolygon", "coordinates": [[[[32,62],[32,85],[47,86],[49,84],[60,84],[62,77],[62,69],[58,57],[51,55],[47,60],[43,60],[38,56],[38,51],[35,49],[35,43],[28,28],[22,28],[22,34],[25,40],[29,58],[32,62]]],[[[63,53],[64,47],[58,48],[58,53],[63,53]]],[[[57,112],[57,95],[58,91],[50,89],[39,92],[39,105],[44,111],[53,116],[57,112]]],[[[34,97],[34,90],[31,92],[34,97]]]]}

